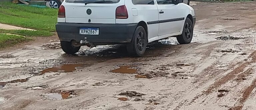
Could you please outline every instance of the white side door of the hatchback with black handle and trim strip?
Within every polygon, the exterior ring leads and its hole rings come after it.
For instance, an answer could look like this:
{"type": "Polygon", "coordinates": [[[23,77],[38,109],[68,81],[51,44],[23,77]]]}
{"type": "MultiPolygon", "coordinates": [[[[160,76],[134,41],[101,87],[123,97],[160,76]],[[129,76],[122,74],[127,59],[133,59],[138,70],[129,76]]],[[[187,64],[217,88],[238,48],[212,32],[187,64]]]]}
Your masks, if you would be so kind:
{"type": "Polygon", "coordinates": [[[180,32],[184,15],[180,4],[175,5],[174,0],[157,0],[159,14],[158,36],[180,32]]]}

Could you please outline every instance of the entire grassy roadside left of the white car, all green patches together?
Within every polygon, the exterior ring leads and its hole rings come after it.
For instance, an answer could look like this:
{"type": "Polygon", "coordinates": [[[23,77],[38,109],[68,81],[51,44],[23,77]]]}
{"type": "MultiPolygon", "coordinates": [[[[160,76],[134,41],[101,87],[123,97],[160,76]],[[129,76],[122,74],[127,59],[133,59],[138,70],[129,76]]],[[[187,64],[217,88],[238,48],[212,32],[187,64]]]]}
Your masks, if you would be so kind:
{"type": "Polygon", "coordinates": [[[0,48],[28,42],[35,37],[53,36],[54,33],[52,32],[55,32],[57,14],[58,9],[37,8],[12,4],[11,2],[0,2],[0,23],[37,30],[0,29],[0,48]]]}

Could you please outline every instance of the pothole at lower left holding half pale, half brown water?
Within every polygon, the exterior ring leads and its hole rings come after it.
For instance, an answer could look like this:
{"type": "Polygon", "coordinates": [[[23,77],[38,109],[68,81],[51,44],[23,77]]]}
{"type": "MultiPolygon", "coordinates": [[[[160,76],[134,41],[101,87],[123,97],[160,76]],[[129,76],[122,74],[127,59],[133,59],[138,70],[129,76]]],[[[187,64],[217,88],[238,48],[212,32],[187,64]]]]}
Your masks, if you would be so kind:
{"type": "Polygon", "coordinates": [[[49,93],[41,94],[43,100],[62,100],[69,99],[72,97],[78,96],[74,90],[59,90],[59,91],[50,91],[49,93]]]}

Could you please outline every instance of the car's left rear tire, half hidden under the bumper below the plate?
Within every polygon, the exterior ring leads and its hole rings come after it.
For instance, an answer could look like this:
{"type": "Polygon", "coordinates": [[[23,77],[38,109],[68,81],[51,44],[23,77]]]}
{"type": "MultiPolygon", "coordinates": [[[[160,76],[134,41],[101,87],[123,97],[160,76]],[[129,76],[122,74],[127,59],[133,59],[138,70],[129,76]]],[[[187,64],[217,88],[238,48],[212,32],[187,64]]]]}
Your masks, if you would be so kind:
{"type": "Polygon", "coordinates": [[[80,47],[74,47],[72,46],[71,42],[67,42],[67,41],[60,41],[60,45],[62,50],[67,53],[67,54],[75,54],[76,52],[79,51],[80,47]]]}

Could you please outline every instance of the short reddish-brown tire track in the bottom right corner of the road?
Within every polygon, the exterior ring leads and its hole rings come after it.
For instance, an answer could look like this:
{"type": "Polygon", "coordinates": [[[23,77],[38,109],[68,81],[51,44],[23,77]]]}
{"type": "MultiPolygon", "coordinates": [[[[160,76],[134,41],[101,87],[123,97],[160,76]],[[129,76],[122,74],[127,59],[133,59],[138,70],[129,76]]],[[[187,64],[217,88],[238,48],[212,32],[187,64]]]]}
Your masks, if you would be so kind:
{"type": "Polygon", "coordinates": [[[253,89],[256,87],[256,78],[253,80],[250,86],[248,86],[244,91],[241,98],[239,98],[237,106],[232,107],[228,110],[242,110],[245,101],[249,98],[250,94],[252,93],[253,89]]]}

